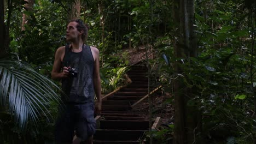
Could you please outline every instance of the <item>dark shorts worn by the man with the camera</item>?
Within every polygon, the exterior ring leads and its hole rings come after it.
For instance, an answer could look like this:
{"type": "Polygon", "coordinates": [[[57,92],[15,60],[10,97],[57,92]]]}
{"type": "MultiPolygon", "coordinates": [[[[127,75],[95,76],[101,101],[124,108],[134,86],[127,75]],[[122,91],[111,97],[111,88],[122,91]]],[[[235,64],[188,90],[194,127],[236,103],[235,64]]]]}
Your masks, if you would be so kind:
{"type": "Polygon", "coordinates": [[[57,142],[72,143],[74,130],[82,140],[95,134],[94,103],[66,104],[60,113],[55,129],[57,142]]]}

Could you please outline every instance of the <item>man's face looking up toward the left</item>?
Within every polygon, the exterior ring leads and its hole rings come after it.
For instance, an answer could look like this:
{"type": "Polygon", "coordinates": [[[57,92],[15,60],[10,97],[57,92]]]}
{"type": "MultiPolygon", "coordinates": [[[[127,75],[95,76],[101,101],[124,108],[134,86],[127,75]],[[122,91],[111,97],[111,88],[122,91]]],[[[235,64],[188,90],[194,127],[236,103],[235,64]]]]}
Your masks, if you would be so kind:
{"type": "Polygon", "coordinates": [[[68,26],[67,26],[67,30],[66,30],[66,40],[67,41],[72,41],[74,39],[78,39],[79,34],[81,32],[79,32],[77,30],[77,26],[78,23],[77,22],[69,22],[68,26]]]}

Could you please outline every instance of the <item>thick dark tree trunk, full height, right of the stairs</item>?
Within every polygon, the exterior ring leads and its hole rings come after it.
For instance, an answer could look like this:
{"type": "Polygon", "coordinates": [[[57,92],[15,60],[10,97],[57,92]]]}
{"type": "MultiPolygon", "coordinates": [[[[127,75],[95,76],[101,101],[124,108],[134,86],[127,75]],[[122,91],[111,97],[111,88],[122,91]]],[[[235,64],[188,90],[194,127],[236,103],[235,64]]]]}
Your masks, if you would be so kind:
{"type": "Polygon", "coordinates": [[[196,39],[194,34],[194,0],[174,0],[174,21],[177,23],[174,45],[174,56],[179,60],[174,64],[178,79],[174,81],[175,94],[175,143],[193,143],[195,135],[200,130],[200,113],[189,100],[193,99],[193,88],[185,86],[184,79],[187,79],[183,70],[183,62],[189,63],[190,57],[196,56],[196,39]],[[187,61],[186,61],[187,60],[187,61]],[[198,114],[198,115],[195,115],[198,114]]]}

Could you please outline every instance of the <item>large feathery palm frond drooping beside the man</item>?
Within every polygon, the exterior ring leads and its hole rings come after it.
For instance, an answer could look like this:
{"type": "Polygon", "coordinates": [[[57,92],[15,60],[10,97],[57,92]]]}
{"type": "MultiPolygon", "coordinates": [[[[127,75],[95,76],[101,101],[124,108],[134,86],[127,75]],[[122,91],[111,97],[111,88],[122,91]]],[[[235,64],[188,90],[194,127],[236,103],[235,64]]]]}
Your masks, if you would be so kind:
{"type": "Polygon", "coordinates": [[[0,60],[0,106],[8,109],[20,129],[25,129],[28,121],[36,123],[41,116],[50,120],[50,102],[60,101],[57,89],[30,65],[0,60]]]}

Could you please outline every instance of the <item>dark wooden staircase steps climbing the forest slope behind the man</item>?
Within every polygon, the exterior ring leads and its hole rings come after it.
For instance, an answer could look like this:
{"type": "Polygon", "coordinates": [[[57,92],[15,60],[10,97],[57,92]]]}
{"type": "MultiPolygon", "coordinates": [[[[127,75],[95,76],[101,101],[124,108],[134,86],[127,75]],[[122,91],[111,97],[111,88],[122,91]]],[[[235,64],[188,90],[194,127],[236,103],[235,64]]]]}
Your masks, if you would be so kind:
{"type": "Polygon", "coordinates": [[[140,143],[149,130],[149,121],[132,112],[131,105],[148,94],[147,68],[131,66],[127,73],[132,83],[102,101],[101,118],[94,144],[140,143]]]}

